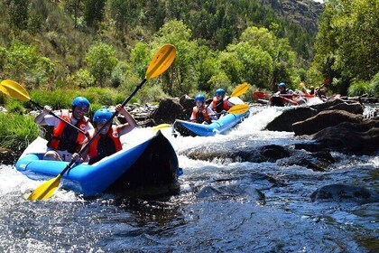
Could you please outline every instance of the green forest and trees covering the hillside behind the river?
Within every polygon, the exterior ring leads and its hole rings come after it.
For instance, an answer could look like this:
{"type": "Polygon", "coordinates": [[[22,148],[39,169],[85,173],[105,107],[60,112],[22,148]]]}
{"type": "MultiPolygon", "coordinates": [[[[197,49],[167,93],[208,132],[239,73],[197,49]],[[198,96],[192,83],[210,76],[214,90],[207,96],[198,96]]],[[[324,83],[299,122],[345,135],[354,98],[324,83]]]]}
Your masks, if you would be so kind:
{"type": "Polygon", "coordinates": [[[274,90],[329,80],[331,91],[377,94],[378,1],[326,1],[314,34],[259,1],[5,0],[0,75],[26,89],[129,94],[153,53],[172,43],[174,63],[140,102],[242,82],[274,90]]]}

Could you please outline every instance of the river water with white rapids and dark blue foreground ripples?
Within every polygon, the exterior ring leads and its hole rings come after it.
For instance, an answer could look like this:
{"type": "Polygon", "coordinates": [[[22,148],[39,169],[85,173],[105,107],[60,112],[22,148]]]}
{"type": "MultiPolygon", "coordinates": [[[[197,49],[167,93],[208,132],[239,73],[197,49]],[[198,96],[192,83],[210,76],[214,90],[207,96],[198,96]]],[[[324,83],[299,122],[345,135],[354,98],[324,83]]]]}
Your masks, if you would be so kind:
{"type": "MultiPolygon", "coordinates": [[[[379,252],[379,203],[311,201],[332,183],[379,189],[379,157],[332,153],[325,172],[300,165],[190,159],[191,148],[286,145],[307,140],[263,131],[282,108],[251,108],[227,135],[163,134],[179,154],[180,192],[167,198],[86,200],[59,189],[25,201],[40,185],[0,165],[0,252],[379,252]]],[[[152,135],[135,129],[127,141],[152,135]]]]}

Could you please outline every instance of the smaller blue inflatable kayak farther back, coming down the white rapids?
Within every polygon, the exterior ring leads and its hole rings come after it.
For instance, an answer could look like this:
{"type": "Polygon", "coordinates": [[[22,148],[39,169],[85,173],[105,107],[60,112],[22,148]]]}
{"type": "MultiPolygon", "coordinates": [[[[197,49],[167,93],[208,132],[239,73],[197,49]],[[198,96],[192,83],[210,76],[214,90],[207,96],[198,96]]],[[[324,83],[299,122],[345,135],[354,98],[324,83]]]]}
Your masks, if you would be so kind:
{"type": "Polygon", "coordinates": [[[226,114],[218,120],[212,121],[209,125],[189,122],[176,119],[172,125],[172,135],[174,136],[216,136],[222,134],[241,123],[245,117],[249,117],[250,111],[241,114],[226,114]]]}

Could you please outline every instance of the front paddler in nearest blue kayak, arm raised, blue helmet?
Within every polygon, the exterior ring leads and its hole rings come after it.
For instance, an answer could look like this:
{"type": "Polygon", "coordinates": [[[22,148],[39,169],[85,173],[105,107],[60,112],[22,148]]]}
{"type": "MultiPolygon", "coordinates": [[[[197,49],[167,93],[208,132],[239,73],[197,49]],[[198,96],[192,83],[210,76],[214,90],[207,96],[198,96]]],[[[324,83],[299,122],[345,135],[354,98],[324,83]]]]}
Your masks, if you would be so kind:
{"type": "MultiPolygon", "coordinates": [[[[122,145],[120,141],[120,136],[123,136],[134,129],[137,123],[134,117],[130,115],[128,111],[122,105],[116,105],[116,111],[125,117],[126,123],[122,125],[113,125],[113,121],[110,121],[101,130],[100,134],[92,140],[89,148],[83,151],[81,159],[79,159],[79,154],[76,153],[72,155],[72,159],[78,160],[79,162],[87,160],[87,155],[89,158],[88,164],[95,164],[106,156],[113,155],[117,151],[122,150],[122,145]]],[[[100,130],[109,118],[113,116],[113,113],[106,108],[98,109],[93,117],[93,122],[95,125],[95,131],[100,130]]],[[[91,135],[94,136],[94,135],[91,135]]],[[[84,144],[85,145],[85,144],[84,144]]]]}

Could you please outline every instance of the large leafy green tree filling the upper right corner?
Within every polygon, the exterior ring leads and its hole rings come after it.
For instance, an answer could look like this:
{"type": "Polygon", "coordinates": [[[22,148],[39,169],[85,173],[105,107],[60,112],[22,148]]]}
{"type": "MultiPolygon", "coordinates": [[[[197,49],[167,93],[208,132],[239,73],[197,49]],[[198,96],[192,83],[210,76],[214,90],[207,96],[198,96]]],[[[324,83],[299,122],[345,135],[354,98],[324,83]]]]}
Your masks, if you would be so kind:
{"type": "Polygon", "coordinates": [[[334,91],[346,94],[351,81],[371,80],[379,71],[378,14],[377,0],[326,2],[314,61],[324,78],[336,80],[334,91]]]}

